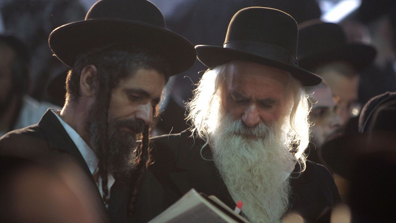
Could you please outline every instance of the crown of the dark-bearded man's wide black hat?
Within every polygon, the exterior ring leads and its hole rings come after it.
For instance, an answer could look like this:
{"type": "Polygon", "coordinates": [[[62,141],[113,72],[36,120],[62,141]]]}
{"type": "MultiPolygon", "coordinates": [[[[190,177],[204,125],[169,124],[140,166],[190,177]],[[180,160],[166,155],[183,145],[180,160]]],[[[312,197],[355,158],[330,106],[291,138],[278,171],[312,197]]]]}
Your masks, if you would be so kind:
{"type": "Polygon", "coordinates": [[[123,19],[165,28],[161,11],[147,0],[100,0],[88,11],[89,19],[123,19]]]}

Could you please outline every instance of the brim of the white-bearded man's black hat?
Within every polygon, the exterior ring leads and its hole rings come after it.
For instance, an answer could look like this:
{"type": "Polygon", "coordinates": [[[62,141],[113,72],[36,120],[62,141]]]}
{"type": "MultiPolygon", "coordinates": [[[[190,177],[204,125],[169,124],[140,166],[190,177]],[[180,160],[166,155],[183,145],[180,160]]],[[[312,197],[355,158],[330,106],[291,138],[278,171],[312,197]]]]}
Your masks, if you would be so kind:
{"type": "Polygon", "coordinates": [[[197,52],[198,60],[200,60],[201,63],[209,68],[222,65],[232,60],[244,60],[288,71],[293,77],[299,80],[303,86],[318,85],[322,81],[322,78],[320,78],[319,76],[309,71],[306,71],[305,69],[302,69],[298,66],[263,57],[257,54],[252,54],[250,52],[245,52],[242,50],[234,50],[221,46],[209,45],[195,46],[195,50],[197,52]]]}

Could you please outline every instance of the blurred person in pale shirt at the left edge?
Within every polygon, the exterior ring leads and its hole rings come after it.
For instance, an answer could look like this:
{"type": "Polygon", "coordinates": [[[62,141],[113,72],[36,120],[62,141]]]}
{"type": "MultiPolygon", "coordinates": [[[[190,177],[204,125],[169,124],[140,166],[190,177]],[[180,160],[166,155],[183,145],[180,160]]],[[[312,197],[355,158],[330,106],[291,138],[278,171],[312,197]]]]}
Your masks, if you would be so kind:
{"type": "Polygon", "coordinates": [[[28,95],[29,50],[17,37],[0,34],[0,137],[14,129],[34,125],[48,108],[28,95]]]}

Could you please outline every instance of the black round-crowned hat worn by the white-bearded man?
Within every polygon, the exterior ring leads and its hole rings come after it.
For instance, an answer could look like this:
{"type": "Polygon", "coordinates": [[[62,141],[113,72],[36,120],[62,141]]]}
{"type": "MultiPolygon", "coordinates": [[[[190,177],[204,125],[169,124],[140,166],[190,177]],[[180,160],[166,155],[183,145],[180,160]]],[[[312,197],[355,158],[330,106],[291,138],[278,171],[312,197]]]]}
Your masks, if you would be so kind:
{"type": "Polygon", "coordinates": [[[303,86],[322,79],[298,65],[297,23],[285,12],[273,8],[250,7],[239,10],[228,25],[221,46],[195,46],[198,60],[209,68],[245,60],[289,71],[303,86]]]}

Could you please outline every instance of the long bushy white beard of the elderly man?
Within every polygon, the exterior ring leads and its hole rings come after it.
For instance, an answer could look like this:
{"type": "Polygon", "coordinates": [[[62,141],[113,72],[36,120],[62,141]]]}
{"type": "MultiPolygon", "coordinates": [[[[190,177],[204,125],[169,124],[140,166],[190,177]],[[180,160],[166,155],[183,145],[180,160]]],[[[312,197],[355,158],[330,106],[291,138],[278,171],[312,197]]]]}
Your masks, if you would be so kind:
{"type": "Polygon", "coordinates": [[[219,114],[209,131],[215,165],[250,222],[281,222],[289,208],[289,176],[296,163],[287,149],[284,121],[253,128],[219,114]]]}

